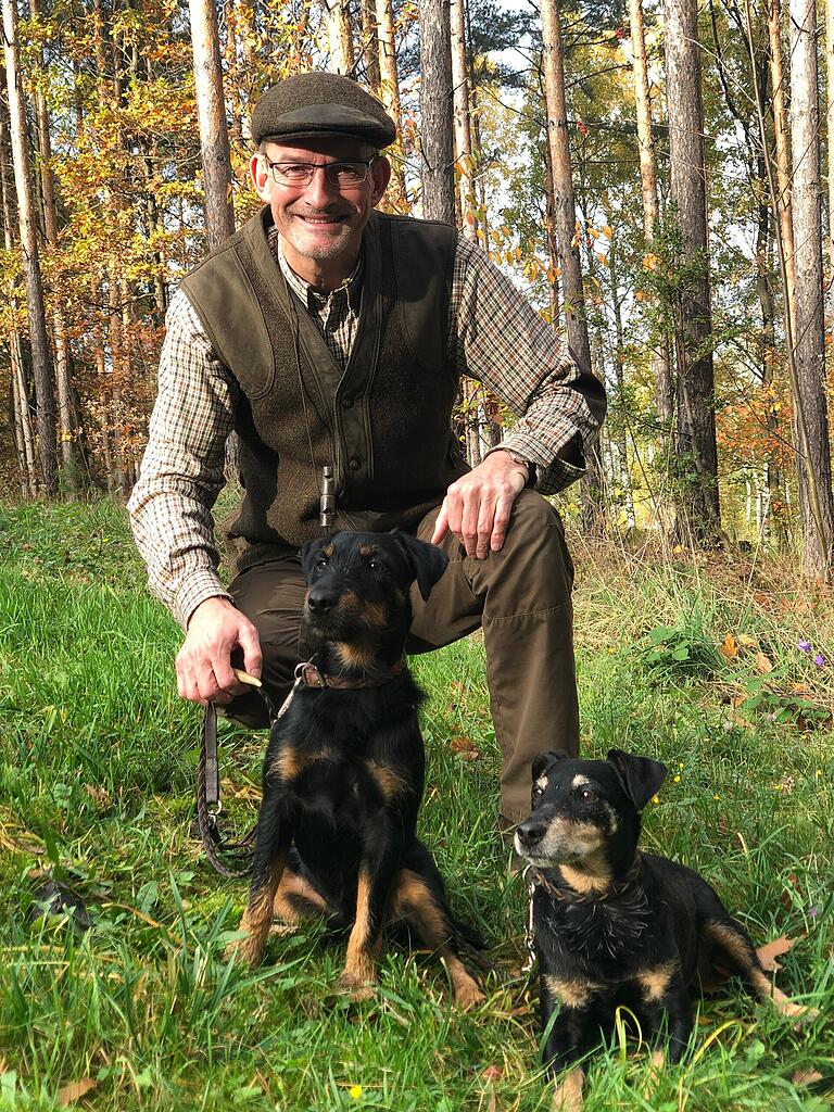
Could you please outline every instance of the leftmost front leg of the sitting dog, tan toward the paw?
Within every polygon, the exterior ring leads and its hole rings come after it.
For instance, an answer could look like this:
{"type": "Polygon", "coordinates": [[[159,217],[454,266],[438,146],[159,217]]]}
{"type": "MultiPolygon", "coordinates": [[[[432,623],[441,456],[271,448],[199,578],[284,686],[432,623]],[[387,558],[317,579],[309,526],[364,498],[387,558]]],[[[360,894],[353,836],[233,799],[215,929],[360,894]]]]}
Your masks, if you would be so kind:
{"type": "Polygon", "coordinates": [[[280,802],[279,792],[267,784],[258,816],[249,900],[239,927],[246,937],[230,942],[226,949],[227,957],[235,955],[250,965],[257,965],[264,956],[275,897],[289,854],[290,826],[281,817],[280,802]]]}

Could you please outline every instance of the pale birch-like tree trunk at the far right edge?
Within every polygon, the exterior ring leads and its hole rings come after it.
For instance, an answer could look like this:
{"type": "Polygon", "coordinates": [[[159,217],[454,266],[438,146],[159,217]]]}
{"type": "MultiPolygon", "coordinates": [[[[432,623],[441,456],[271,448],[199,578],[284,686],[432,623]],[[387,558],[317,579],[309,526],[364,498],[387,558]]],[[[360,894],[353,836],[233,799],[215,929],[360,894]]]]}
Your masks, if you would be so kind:
{"type": "Polygon", "coordinates": [[[796,269],[796,424],[805,569],[831,578],[834,498],[823,324],[822,182],[815,0],[791,0],[791,135],[796,269]]]}

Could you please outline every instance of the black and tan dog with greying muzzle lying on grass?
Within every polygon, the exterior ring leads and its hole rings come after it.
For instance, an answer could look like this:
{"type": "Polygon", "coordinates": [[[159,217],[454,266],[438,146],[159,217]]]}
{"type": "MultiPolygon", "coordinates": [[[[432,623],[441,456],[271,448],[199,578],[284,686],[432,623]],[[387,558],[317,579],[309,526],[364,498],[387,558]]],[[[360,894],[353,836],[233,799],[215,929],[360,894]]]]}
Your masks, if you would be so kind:
{"type": "Polygon", "coordinates": [[[554,1109],[582,1106],[576,1063],[607,1037],[620,1005],[647,1040],[667,1037],[669,1062],[692,1033],[691,987],[714,983],[716,971],[742,976],[785,1015],[808,1014],[771,985],[746,931],[706,881],[638,852],[641,812],[665,777],[657,761],[620,749],[607,761],[548,752],[533,763],[533,813],[515,847],[532,866],[545,1029],[560,1004],[544,1048],[553,1078],[569,1069],[554,1109]]]}

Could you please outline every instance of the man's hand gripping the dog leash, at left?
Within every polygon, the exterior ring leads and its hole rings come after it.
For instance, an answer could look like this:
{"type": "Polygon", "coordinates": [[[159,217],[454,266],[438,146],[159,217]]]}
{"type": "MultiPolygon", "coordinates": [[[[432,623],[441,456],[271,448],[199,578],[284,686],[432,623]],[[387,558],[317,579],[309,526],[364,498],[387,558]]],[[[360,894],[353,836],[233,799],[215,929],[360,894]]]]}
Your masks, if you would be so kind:
{"type": "Polygon", "coordinates": [[[260,678],[258,631],[228,598],[207,598],[188,623],[177,654],[177,691],[192,703],[230,703],[247,688],[235,677],[231,653],[244,651],[244,671],[260,678]]]}

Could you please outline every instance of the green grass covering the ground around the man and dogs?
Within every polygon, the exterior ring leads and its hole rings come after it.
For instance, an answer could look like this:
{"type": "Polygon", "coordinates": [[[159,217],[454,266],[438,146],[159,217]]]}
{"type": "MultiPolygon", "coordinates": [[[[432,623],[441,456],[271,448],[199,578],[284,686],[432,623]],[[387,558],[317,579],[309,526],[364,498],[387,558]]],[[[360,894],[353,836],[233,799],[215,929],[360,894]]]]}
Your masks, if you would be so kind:
{"type": "MultiPolygon", "coordinates": [[[[597,1055],[586,1106],[827,1108],[824,1083],[792,1080],[834,1073],[831,672],[796,649],[834,648],[826,600],[776,567],[576,555],[585,752],[669,765],[646,846],[702,871],[757,942],[796,940],[778,984],[821,1010],[794,1030],[729,986],[651,1099],[632,1040],[628,1055],[616,1042],[597,1055]],[[727,633],[755,648],[725,659],[727,633]]],[[[199,715],[177,698],[179,631],[146,594],[123,513],[0,508],[0,1109],[57,1109],[72,1083],[102,1112],[549,1108],[477,637],[414,662],[429,693],[421,826],[498,971],[486,1004],[459,1015],[441,966],[390,950],[376,1000],[351,1005],[334,995],[342,946],[316,923],[271,942],[256,972],[221,960],[245,885],[218,877],[192,835],[199,715]],[[43,915],[47,877],[83,897],[90,930],[43,915]]],[[[241,827],[262,746],[224,729],[241,827]]]]}

